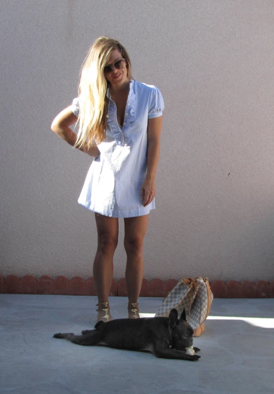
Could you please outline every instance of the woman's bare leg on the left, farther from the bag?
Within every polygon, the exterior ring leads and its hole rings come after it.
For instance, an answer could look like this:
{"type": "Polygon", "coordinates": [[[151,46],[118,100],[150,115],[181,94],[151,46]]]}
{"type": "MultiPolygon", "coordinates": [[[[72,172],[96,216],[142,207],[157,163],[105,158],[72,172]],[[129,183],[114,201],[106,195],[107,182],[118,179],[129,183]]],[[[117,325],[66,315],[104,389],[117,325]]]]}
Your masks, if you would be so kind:
{"type": "Polygon", "coordinates": [[[93,277],[98,302],[108,302],[113,277],[113,256],[118,244],[118,219],[95,214],[98,248],[94,259],[93,277]]]}

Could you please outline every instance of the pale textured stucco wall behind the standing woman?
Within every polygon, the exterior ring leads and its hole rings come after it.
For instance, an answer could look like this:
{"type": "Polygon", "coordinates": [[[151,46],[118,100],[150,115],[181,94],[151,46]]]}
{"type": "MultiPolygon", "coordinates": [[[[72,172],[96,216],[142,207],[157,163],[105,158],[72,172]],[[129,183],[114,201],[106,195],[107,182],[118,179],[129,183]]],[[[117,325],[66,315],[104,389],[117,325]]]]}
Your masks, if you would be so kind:
{"type": "MultiPolygon", "coordinates": [[[[90,157],[50,130],[85,54],[120,40],[165,99],[146,278],[273,278],[274,7],[249,0],[1,2],[0,273],[92,275],[90,157]]],[[[123,221],[115,278],[124,276],[123,221]]]]}

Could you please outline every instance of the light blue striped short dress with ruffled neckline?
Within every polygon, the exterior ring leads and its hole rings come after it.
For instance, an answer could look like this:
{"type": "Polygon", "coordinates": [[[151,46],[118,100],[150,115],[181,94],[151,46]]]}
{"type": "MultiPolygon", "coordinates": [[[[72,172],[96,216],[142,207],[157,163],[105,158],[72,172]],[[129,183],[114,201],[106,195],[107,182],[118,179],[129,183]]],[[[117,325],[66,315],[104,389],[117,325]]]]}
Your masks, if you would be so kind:
{"type": "MultiPolygon", "coordinates": [[[[117,218],[147,215],[155,209],[154,200],[143,207],[141,185],[147,172],[148,119],[161,116],[163,108],[157,87],[134,80],[122,127],[117,122],[115,102],[109,102],[106,137],[98,145],[100,155],[89,168],[79,204],[117,218]]],[[[72,111],[79,115],[78,98],[72,102],[72,111]]]]}

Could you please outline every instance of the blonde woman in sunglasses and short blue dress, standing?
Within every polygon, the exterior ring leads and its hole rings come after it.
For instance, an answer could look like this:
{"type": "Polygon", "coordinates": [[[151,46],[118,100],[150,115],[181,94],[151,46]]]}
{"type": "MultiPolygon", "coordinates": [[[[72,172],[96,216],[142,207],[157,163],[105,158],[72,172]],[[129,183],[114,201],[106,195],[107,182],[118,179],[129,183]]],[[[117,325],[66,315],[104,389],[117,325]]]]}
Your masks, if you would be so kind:
{"type": "Polygon", "coordinates": [[[133,80],[125,48],[116,40],[99,37],[83,64],[79,97],[51,125],[62,139],[95,158],[78,202],[95,212],[97,321],[112,319],[108,294],[118,243],[118,218],[124,218],[129,317],[139,317],[143,238],[149,212],[155,208],[163,108],[161,93],[155,86],[133,80]],[[77,135],[70,129],[76,121],[77,135]]]}

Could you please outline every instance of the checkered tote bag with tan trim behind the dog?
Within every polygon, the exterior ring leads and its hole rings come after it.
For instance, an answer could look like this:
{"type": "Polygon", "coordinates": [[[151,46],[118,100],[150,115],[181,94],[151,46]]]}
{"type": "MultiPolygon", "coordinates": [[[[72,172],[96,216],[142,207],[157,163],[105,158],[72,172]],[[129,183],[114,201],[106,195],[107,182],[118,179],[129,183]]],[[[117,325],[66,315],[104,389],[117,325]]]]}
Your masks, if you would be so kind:
{"type": "Polygon", "coordinates": [[[177,309],[178,314],[185,309],[187,321],[194,330],[193,336],[199,336],[205,331],[204,322],[209,314],[212,299],[208,278],[182,278],[163,300],[155,316],[167,317],[172,308],[177,309]]]}

